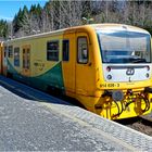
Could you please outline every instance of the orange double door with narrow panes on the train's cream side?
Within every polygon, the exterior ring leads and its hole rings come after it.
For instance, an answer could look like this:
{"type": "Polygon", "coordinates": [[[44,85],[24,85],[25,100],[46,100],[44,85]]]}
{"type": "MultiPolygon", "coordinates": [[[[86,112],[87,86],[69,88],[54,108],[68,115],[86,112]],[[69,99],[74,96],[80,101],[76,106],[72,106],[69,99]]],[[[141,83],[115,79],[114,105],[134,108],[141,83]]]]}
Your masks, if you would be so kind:
{"type": "Polygon", "coordinates": [[[30,46],[23,47],[23,71],[24,76],[30,76],[30,46]]]}

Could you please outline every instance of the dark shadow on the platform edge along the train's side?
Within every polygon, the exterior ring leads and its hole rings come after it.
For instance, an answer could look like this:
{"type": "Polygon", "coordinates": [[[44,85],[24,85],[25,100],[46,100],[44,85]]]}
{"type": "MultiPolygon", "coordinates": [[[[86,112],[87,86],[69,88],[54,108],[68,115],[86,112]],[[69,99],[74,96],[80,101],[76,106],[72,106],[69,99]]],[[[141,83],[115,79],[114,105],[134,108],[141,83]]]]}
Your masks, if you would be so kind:
{"type": "Polygon", "coordinates": [[[31,101],[64,104],[71,106],[80,106],[85,109],[78,101],[73,98],[51,92],[43,92],[41,90],[31,88],[23,83],[0,76],[0,86],[11,91],[12,93],[31,101]]]}

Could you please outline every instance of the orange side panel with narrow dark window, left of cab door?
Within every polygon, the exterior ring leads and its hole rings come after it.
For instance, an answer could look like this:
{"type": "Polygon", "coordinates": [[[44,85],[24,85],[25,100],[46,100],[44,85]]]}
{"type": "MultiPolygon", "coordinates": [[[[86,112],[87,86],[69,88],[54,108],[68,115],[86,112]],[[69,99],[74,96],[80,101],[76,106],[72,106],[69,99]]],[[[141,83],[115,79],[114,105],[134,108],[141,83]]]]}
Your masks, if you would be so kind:
{"type": "Polygon", "coordinates": [[[75,93],[75,33],[67,33],[62,41],[62,71],[65,87],[65,93],[72,96],[75,93]]]}

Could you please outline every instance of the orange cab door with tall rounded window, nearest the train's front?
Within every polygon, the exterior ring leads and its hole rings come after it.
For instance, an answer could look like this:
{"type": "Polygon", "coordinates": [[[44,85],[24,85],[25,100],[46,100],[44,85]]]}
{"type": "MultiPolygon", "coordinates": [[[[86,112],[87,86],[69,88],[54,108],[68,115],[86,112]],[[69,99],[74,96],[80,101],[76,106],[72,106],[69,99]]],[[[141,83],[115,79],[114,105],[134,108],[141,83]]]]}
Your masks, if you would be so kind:
{"type": "Polygon", "coordinates": [[[92,71],[89,59],[89,37],[87,33],[76,33],[76,93],[88,94],[92,87],[92,71]]]}

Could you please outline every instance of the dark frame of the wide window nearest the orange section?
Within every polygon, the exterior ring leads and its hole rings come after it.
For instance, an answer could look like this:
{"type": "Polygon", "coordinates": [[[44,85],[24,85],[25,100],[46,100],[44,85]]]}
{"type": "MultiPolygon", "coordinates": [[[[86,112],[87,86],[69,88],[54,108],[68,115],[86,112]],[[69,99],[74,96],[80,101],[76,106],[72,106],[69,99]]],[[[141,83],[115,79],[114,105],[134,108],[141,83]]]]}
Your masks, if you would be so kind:
{"type": "Polygon", "coordinates": [[[54,62],[58,62],[59,61],[59,53],[60,53],[60,41],[59,40],[50,40],[50,41],[47,41],[47,61],[54,61],[54,62]],[[49,43],[55,43],[58,45],[58,50],[49,50],[48,49],[48,45],[49,43]],[[49,55],[51,53],[56,53],[58,55],[49,55]],[[51,58],[50,58],[51,56],[51,58]]]}

